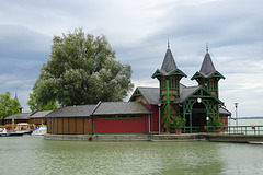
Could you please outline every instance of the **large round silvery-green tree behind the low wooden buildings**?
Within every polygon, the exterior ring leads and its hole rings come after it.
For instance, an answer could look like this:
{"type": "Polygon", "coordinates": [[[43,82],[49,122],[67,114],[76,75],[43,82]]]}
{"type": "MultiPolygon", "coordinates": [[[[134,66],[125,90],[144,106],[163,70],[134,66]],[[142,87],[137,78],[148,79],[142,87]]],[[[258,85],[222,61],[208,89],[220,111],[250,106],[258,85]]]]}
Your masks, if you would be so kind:
{"type": "Polygon", "coordinates": [[[62,106],[122,101],[133,89],[132,67],[115,60],[104,35],[82,28],[54,36],[50,59],[44,63],[33,91],[36,100],[62,106]]]}

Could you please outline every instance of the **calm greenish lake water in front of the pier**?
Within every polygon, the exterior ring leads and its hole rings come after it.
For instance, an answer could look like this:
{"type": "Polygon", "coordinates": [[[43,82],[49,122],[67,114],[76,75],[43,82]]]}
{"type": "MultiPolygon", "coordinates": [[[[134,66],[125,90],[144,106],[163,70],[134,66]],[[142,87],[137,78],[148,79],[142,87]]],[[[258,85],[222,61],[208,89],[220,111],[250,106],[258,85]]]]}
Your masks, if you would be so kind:
{"type": "Polygon", "coordinates": [[[0,174],[262,174],[263,145],[0,138],[0,174]]]}

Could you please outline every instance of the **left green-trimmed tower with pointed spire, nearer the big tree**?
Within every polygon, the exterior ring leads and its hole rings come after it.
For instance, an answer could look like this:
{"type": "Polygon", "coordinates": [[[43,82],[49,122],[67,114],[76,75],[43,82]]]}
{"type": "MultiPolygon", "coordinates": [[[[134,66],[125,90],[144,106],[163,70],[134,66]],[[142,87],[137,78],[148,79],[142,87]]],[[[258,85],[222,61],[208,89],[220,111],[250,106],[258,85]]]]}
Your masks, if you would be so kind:
{"type": "Polygon", "coordinates": [[[180,80],[187,77],[182,72],[173,59],[172,51],[168,43],[168,49],[161,69],[157,69],[152,79],[159,80],[161,104],[161,130],[170,132],[171,121],[179,116],[180,107],[172,102],[180,97],[180,80]]]}

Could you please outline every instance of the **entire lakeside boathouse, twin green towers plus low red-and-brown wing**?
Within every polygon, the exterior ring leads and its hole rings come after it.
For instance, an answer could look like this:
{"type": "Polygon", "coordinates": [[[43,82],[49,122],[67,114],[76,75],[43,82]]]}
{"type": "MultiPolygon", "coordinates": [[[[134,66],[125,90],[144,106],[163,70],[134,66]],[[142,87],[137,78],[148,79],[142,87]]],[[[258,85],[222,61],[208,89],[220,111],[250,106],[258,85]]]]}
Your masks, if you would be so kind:
{"type": "Polygon", "coordinates": [[[49,113],[46,115],[47,133],[173,132],[172,124],[179,117],[186,120],[183,132],[204,131],[219,118],[227,126],[231,114],[219,100],[219,80],[225,77],[215,69],[208,48],[199,71],[191,78],[197,85],[181,83],[187,75],[178,68],[169,46],[161,69],[157,69],[151,78],[159,81],[159,88],[139,86],[129,102],[66,106],[49,113]]]}

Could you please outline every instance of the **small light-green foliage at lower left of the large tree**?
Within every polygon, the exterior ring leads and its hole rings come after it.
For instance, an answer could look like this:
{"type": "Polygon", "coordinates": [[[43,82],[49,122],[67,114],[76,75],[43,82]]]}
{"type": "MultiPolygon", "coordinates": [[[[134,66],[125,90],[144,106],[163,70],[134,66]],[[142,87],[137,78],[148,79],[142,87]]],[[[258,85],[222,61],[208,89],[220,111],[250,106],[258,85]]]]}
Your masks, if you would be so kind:
{"type": "Polygon", "coordinates": [[[34,91],[33,93],[30,93],[30,100],[27,101],[27,105],[30,106],[32,113],[35,110],[54,110],[58,108],[57,102],[55,101],[49,101],[47,104],[37,101],[34,91]]]}

